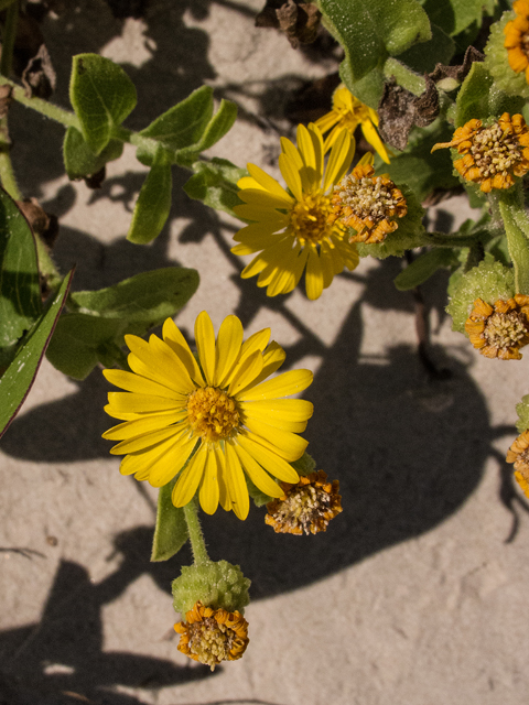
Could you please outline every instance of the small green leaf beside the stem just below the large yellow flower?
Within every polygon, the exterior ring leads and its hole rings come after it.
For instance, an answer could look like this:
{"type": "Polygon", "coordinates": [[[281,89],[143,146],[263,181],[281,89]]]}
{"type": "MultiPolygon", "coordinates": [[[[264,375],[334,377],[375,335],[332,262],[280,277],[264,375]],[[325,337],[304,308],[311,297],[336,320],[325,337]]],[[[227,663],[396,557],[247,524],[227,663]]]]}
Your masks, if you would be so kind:
{"type": "Polygon", "coordinates": [[[151,561],[168,561],[175,555],[190,538],[182,507],[171,499],[177,478],[160,488],[158,492],[156,525],[152,541],[151,561]]]}

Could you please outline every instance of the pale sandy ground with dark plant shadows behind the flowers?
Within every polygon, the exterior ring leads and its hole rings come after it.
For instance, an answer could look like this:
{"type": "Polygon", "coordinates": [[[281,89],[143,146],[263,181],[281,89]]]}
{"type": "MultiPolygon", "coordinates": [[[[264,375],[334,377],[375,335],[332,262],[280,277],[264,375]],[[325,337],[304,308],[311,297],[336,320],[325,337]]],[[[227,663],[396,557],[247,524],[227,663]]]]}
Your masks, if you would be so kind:
{"type": "MultiPolygon", "coordinates": [[[[333,70],[255,29],[260,0],[152,0],[145,20],[125,22],[102,0],[72,6],[80,11],[46,22],[52,57],[120,62],[140,96],[127,124],[141,129],[206,82],[246,109],[215,154],[276,175],[285,88],[333,70]]],[[[186,335],[204,308],[216,327],[236,313],[248,333],[271,326],[285,369],[314,370],[309,449],[339,478],[345,510],[310,538],[273,534],[256,509],[245,523],[204,521],[212,557],[253,581],[248,651],[212,674],[177,652],[172,630],[170,583],[190,553],[149,563],[155,491],[121,477],[100,440],[108,384],[99,370],[79,383],[45,361],[0,444],[0,704],[525,705],[529,517],[501,458],[527,362],[486,360],[452,333],[438,274],[424,296],[434,359],[452,377],[428,382],[411,297],[391,283],[397,261],[363,261],[314,303],[301,290],[267,299],[238,276],[235,220],[191,202],[179,170],[170,224],[132,246],[123,236],[145,173],[133,151],[90,192],[63,174],[61,129],[13,116],[24,192],[61,216],[56,259],[77,262],[77,289],[195,267],[201,286],[176,318],[186,335]]],[[[451,214],[471,212],[453,199],[432,219],[451,214]]]]}

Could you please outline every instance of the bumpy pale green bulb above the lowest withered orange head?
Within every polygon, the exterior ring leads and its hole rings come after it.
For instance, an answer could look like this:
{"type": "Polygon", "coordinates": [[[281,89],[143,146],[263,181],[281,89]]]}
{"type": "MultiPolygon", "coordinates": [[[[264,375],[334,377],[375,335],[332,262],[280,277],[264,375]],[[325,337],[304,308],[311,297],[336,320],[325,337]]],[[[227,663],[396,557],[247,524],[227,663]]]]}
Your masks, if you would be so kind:
{"type": "Polygon", "coordinates": [[[235,610],[244,614],[249,604],[248,588],[251,581],[242,575],[238,565],[227,561],[208,561],[182,567],[180,577],[173,581],[173,607],[185,615],[201,601],[214,609],[235,610]]]}

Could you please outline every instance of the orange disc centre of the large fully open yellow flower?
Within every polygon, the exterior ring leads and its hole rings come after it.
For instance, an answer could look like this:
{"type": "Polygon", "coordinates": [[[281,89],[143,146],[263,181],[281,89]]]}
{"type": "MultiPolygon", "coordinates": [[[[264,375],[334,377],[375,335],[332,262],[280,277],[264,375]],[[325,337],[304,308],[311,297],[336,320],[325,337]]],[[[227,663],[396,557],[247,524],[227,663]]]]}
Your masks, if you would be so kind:
{"type": "Polygon", "coordinates": [[[197,389],[188,397],[188,424],[205,441],[215,442],[228,437],[238,426],[239,419],[235,400],[216,387],[197,389]]]}

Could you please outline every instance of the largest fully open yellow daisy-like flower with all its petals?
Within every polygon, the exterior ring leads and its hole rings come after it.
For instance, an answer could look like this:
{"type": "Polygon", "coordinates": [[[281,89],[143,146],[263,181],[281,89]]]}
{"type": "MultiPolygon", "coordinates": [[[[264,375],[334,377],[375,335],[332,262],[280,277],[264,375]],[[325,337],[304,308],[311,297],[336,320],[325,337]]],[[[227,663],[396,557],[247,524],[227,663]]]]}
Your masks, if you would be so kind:
{"type": "Polygon", "coordinates": [[[105,411],[123,423],[104,434],[120,441],[111,448],[121,460],[122,475],[134,475],[162,487],[176,475],[172,499],[183,507],[198,490],[204,511],[218,502],[239,519],[249,510],[245,473],[266,495],[280,497],[272,479],[296,482],[290,463],[300,458],[307,442],[305,430],[313,406],[301,399],[284,399],[312,382],[310,370],[283,372],[271,380],[284,360],[284,350],[268,345],[270,328],[242,343],[237,316],[224,319],[215,332],[203,311],[195,323],[198,362],[171,318],[163,324],[163,340],[127,335],[131,372],[105,370],[109,382],[125,392],[109,392],[105,411]],[[267,347],[268,346],[268,347],[267,347]]]}

